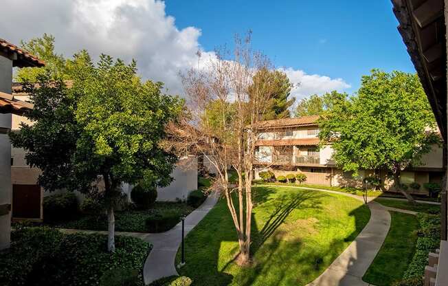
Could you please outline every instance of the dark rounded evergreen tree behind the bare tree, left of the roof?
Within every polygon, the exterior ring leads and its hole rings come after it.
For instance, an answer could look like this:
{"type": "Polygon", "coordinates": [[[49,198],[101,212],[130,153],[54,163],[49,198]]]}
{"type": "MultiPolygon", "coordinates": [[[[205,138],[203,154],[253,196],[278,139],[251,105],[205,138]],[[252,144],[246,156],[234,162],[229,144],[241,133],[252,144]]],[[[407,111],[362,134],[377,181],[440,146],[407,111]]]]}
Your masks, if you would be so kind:
{"type": "Polygon", "coordinates": [[[262,68],[252,77],[253,83],[248,87],[249,97],[256,97],[255,89],[262,86],[263,89],[271,92],[267,104],[267,111],[262,116],[262,120],[272,120],[279,118],[289,118],[289,107],[294,104],[295,98],[289,98],[291,83],[287,74],[276,69],[262,68]]]}

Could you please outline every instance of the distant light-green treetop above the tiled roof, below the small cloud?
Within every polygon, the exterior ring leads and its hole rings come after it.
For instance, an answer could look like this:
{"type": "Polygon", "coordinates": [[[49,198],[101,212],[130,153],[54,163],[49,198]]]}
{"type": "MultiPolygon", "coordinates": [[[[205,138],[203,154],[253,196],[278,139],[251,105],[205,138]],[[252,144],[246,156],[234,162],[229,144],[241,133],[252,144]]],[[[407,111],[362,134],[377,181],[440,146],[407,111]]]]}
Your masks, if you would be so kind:
{"type": "Polygon", "coordinates": [[[340,94],[337,91],[327,92],[326,94],[313,94],[309,98],[302,98],[297,108],[295,116],[302,117],[306,115],[322,115],[325,111],[333,107],[334,102],[347,98],[347,94],[340,94]]]}

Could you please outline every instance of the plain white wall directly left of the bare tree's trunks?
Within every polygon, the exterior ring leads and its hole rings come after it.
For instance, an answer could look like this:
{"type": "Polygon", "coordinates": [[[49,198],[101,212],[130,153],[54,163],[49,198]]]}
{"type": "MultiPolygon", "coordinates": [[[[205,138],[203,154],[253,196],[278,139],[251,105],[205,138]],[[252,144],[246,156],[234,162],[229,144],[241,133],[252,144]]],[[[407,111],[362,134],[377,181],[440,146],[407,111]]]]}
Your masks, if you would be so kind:
{"type": "Polygon", "coordinates": [[[196,156],[179,159],[171,177],[174,181],[166,188],[157,188],[157,201],[185,200],[192,190],[198,188],[198,160],[196,156]]]}

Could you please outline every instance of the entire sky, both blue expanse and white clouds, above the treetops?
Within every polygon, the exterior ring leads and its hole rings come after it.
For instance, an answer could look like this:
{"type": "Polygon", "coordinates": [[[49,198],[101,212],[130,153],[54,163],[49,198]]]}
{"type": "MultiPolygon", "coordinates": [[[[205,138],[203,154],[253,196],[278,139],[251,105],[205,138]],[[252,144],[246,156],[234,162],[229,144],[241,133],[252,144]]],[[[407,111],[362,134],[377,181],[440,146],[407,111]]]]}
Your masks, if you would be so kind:
{"type": "Polygon", "coordinates": [[[70,57],[87,49],[137,60],[143,78],[183,94],[179,72],[196,53],[213,56],[234,34],[252,31],[252,46],[267,54],[304,98],[336,89],[349,94],[373,68],[415,72],[396,30],[390,0],[195,1],[2,0],[0,38],[19,45],[43,33],[70,57]]]}

